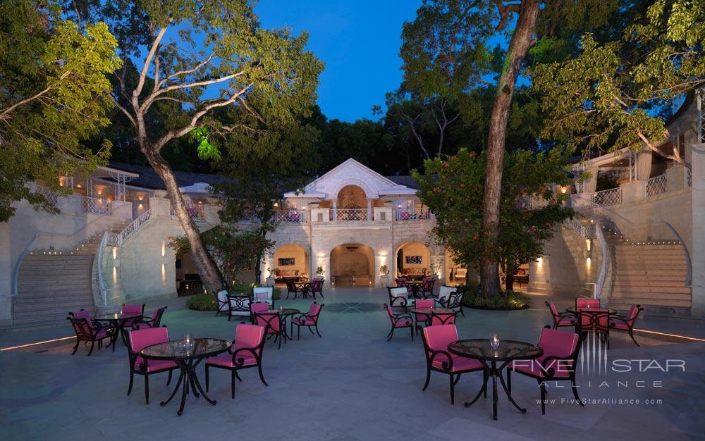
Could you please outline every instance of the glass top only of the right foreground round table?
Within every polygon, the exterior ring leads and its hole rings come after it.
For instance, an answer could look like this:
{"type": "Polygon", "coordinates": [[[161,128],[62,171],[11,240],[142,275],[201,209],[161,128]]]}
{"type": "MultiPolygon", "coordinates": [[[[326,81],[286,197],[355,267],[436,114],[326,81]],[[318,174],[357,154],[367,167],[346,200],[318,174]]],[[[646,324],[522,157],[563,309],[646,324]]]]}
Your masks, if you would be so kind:
{"type": "Polygon", "coordinates": [[[544,349],[533,343],[501,340],[495,350],[492,349],[489,338],[473,338],[448,344],[448,352],[470,359],[511,361],[536,359],[544,354],[544,349]]]}

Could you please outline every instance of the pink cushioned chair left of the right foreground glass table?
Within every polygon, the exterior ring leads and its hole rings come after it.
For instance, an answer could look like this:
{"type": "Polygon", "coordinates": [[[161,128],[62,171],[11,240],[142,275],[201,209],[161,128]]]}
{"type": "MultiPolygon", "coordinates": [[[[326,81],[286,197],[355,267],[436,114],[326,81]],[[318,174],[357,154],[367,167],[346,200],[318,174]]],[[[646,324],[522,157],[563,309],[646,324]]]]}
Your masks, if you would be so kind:
{"type": "Polygon", "coordinates": [[[484,366],[478,360],[448,352],[448,344],[458,340],[458,330],[455,325],[427,326],[424,328],[423,337],[424,353],[426,354],[426,383],[422,390],[429,387],[431,371],[446,373],[450,377],[450,404],[455,404],[455,385],[460,380],[460,374],[474,371],[484,372],[484,366]]]}

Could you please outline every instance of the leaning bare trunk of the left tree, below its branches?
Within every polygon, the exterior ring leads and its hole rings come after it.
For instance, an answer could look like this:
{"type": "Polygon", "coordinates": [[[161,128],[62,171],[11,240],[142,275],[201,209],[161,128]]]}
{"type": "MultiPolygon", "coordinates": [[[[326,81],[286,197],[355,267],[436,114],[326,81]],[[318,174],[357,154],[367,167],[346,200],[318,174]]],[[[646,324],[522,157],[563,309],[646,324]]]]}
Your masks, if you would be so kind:
{"type": "Polygon", "coordinates": [[[220,290],[226,289],[227,283],[223,280],[218,266],[216,266],[216,263],[206,249],[206,245],[203,243],[201,232],[188,213],[188,209],[186,209],[186,204],[183,201],[183,197],[181,197],[181,192],[178,190],[178,184],[176,183],[176,178],[174,177],[171,167],[154,149],[151,149],[149,146],[143,146],[141,149],[142,153],[147,156],[149,165],[154,168],[154,171],[157,172],[159,178],[161,178],[161,180],[164,181],[164,185],[166,185],[166,192],[168,192],[169,199],[171,199],[171,204],[176,212],[176,218],[178,218],[181,228],[183,228],[186,233],[188,243],[191,246],[191,260],[201,276],[204,287],[213,295],[220,290]]]}

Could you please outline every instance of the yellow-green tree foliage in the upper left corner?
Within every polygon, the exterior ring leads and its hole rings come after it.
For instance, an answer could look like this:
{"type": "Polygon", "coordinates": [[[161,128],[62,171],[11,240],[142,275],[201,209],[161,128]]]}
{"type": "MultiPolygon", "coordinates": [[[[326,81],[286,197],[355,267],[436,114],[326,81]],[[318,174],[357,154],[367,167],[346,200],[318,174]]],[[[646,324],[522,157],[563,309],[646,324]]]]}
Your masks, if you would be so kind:
{"type": "Polygon", "coordinates": [[[97,153],[82,142],[109,124],[116,39],[105,23],[79,27],[56,2],[43,6],[0,4],[0,222],[22,199],[58,212],[25,182],[66,194],[60,175],[85,175],[109,156],[108,142],[97,153]]]}

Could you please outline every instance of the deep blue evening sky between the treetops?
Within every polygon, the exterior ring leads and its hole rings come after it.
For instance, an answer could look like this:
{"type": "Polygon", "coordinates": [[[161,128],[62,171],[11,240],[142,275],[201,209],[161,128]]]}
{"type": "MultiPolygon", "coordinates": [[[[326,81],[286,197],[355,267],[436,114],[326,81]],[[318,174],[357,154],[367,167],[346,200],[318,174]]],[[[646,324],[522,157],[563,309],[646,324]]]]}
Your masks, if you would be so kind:
{"type": "Polygon", "coordinates": [[[328,118],[372,118],[372,106],[401,82],[401,27],[421,0],[260,0],[265,28],[309,33],[308,49],[324,63],[318,104],[328,118]]]}

